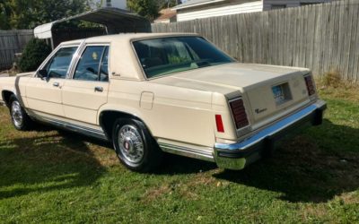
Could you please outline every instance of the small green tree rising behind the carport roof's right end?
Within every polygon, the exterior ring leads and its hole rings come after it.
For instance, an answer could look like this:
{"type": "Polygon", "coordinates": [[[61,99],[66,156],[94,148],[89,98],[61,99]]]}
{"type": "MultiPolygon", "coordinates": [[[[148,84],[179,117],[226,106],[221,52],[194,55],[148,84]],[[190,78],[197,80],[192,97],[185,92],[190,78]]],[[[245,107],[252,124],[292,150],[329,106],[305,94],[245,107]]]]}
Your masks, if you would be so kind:
{"type": "Polygon", "coordinates": [[[153,21],[159,15],[159,5],[153,0],[127,0],[127,7],[149,21],[153,21]]]}

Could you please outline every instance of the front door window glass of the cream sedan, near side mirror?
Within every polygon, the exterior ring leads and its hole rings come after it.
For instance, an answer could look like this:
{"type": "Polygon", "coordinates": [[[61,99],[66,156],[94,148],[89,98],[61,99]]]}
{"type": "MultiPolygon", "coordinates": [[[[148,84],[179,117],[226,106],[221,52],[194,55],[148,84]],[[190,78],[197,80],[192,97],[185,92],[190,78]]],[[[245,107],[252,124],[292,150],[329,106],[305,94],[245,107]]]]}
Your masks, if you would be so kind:
{"type": "Polygon", "coordinates": [[[77,47],[63,47],[57,51],[44,67],[48,73],[48,78],[66,78],[67,70],[76,49],[77,47]]]}

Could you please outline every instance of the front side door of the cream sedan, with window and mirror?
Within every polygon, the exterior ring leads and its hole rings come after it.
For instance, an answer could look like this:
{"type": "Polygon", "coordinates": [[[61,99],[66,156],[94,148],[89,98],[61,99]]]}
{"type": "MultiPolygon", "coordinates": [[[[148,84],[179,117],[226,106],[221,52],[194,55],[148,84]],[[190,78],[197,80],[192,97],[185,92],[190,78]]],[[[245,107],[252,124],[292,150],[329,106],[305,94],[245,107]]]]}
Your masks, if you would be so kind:
{"type": "Polygon", "coordinates": [[[39,68],[46,75],[35,77],[26,85],[28,108],[55,116],[65,116],[61,88],[78,46],[59,47],[48,62],[39,68]]]}

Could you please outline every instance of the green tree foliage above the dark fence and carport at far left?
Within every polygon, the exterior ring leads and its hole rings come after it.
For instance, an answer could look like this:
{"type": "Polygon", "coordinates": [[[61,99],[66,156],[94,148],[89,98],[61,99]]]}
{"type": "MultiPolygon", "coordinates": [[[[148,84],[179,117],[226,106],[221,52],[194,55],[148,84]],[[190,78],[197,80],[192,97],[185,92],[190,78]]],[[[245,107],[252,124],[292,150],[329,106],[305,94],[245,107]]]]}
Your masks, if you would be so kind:
{"type": "Polygon", "coordinates": [[[0,30],[34,29],[87,9],[86,0],[0,0],[0,30]]]}

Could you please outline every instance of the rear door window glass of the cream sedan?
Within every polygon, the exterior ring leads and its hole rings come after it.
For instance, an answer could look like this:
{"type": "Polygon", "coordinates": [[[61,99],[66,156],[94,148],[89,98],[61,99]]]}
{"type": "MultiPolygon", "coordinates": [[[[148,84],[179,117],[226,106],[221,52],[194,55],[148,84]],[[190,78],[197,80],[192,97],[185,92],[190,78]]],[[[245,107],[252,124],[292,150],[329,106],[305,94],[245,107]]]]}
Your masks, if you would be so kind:
{"type": "Polygon", "coordinates": [[[74,70],[74,80],[108,81],[108,47],[86,47],[74,70]]]}

